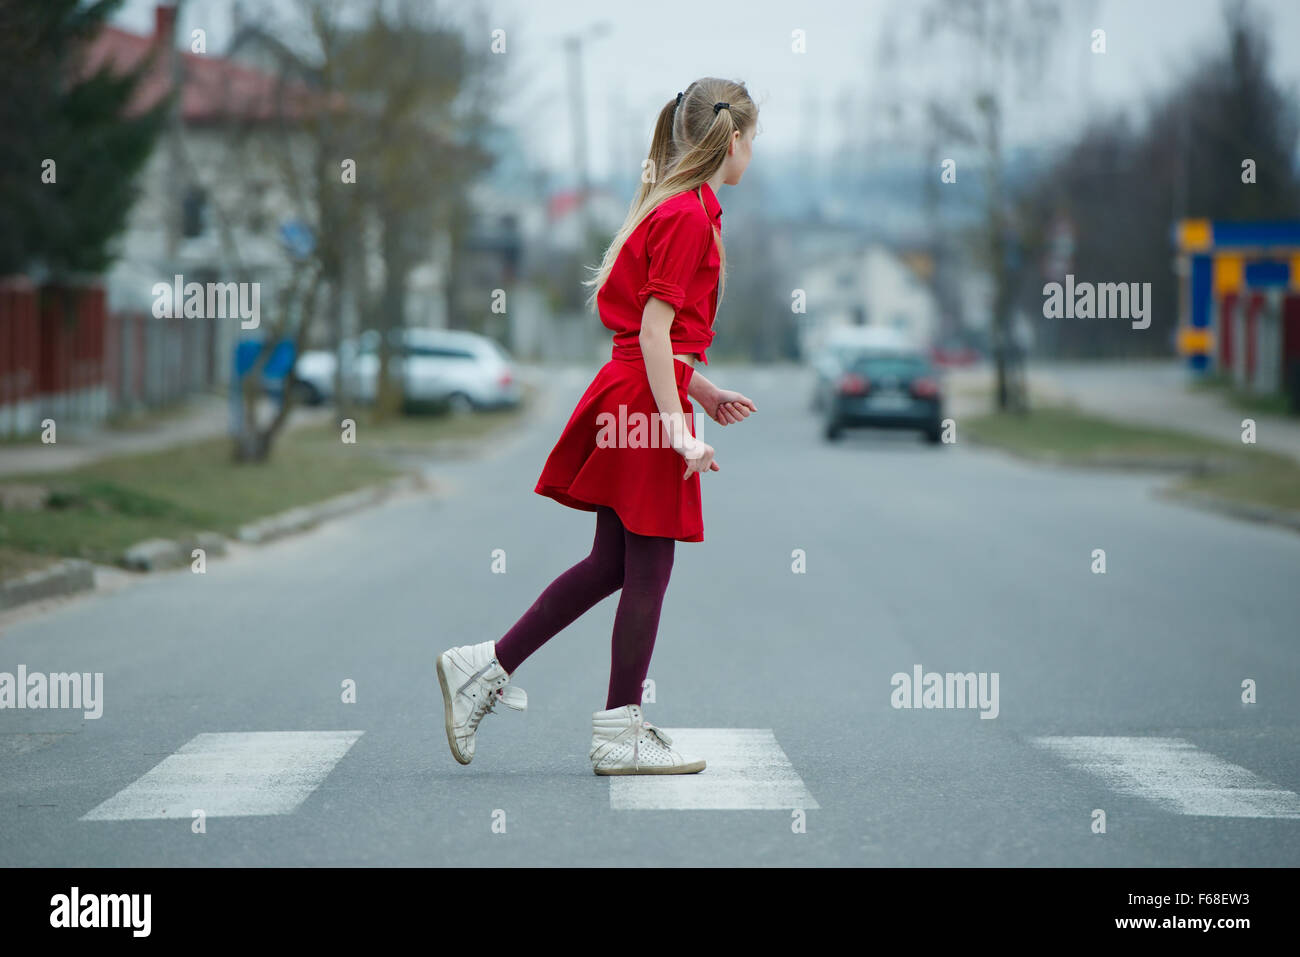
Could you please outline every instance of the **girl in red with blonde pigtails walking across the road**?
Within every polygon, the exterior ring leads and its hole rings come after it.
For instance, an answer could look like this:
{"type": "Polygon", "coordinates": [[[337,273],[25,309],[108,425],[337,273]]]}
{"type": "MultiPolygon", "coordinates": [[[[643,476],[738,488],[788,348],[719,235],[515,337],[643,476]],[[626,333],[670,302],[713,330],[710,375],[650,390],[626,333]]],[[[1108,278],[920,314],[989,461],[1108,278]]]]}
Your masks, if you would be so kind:
{"type": "Polygon", "coordinates": [[[758,109],[742,83],[698,79],[659,112],[641,189],[594,278],[592,304],[614,332],[595,374],[551,450],[536,492],[595,512],[592,553],[537,598],[499,641],[438,658],[447,742],[468,765],[474,733],[497,702],[524,710],[507,687],[533,651],[621,589],[614,619],[610,687],[593,713],[595,774],[692,774],[671,739],[645,720],[641,690],[676,542],[705,538],[699,477],[719,471],[696,438],[696,399],[720,425],[754,403],[696,372],[714,338],[725,289],[719,186],[736,186],[753,155],[758,109]]]}

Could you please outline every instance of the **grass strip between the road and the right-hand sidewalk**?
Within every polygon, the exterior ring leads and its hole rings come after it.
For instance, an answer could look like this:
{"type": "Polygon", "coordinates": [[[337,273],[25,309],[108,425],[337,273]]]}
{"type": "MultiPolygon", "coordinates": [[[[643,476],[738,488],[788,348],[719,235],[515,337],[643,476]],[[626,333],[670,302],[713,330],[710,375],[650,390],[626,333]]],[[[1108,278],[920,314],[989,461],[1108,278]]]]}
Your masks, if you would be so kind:
{"type": "Polygon", "coordinates": [[[1192,473],[1174,484],[1174,494],[1200,493],[1300,512],[1300,463],[1256,446],[1117,423],[1060,406],[1039,407],[1024,416],[993,412],[962,419],[959,428],[978,442],[1032,459],[1184,467],[1192,473]]]}

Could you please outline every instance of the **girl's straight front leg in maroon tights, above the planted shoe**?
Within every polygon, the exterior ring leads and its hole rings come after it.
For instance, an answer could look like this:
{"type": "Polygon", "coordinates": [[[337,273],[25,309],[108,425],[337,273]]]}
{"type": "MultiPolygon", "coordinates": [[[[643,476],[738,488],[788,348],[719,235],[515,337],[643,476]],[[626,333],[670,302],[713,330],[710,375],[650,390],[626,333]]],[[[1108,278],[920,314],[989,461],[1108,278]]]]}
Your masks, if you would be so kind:
{"type": "Polygon", "coordinates": [[[614,616],[614,650],[606,710],[641,705],[641,685],[650,671],[659,610],[672,572],[676,540],[624,529],[623,594],[614,616]]]}

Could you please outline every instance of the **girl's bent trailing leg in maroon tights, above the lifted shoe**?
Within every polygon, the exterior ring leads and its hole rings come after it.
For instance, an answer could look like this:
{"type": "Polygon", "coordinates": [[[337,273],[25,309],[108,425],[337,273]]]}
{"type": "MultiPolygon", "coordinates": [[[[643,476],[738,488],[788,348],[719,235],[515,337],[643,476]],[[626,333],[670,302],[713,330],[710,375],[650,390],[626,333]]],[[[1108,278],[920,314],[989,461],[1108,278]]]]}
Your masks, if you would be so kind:
{"type": "Polygon", "coordinates": [[[592,554],[563,572],[497,642],[497,662],[514,674],[528,655],[623,584],[623,523],[607,506],[597,508],[592,554]]]}

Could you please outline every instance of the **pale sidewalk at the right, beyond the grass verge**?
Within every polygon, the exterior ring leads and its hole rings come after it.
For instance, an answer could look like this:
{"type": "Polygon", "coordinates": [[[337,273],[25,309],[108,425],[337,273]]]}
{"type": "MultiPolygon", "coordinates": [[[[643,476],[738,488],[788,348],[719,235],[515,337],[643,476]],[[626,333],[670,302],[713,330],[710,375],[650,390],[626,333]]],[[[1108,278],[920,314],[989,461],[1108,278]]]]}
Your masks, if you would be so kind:
{"type": "MultiPolygon", "coordinates": [[[[950,373],[961,389],[993,387],[992,365],[950,373]]],[[[1254,419],[1256,443],[1300,462],[1300,421],[1234,408],[1214,391],[1192,391],[1186,361],[1030,361],[1031,403],[1070,402],[1124,423],[1188,432],[1221,442],[1242,441],[1242,420],[1254,419]]]]}

